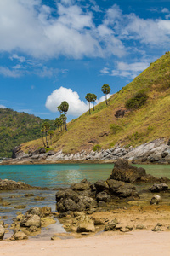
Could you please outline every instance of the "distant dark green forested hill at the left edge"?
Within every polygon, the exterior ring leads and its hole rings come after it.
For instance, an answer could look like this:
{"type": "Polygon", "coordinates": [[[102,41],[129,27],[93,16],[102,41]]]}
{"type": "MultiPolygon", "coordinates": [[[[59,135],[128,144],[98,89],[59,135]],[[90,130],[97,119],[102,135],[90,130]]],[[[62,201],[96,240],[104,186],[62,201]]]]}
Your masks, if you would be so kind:
{"type": "MultiPolygon", "coordinates": [[[[20,143],[42,137],[44,120],[29,113],[18,113],[10,108],[0,108],[0,158],[11,157],[20,143]]],[[[54,121],[49,121],[54,128],[54,121]]]]}

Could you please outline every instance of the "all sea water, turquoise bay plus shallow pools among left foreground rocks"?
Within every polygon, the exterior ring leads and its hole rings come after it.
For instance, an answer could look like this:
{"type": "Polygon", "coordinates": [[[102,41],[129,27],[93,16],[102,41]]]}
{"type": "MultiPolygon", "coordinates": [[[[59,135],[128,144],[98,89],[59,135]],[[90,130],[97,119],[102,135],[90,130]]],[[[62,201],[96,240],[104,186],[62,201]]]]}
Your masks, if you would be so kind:
{"type": "MultiPolygon", "coordinates": [[[[4,219],[5,224],[11,224],[17,212],[25,213],[31,207],[52,208],[56,211],[55,188],[66,188],[71,183],[80,182],[86,178],[89,182],[96,182],[99,179],[106,180],[110,177],[113,164],[53,164],[53,165],[18,165],[18,166],[0,166],[0,178],[22,181],[31,186],[48,187],[50,190],[14,190],[0,191],[3,201],[8,201],[9,205],[3,207],[0,204],[0,217],[7,216],[4,219]],[[33,193],[31,197],[26,194],[33,193]],[[35,201],[39,195],[45,197],[43,201],[35,201]],[[12,196],[12,197],[11,197],[12,196]],[[26,205],[24,209],[16,209],[18,205],[26,205]]],[[[155,177],[170,178],[170,165],[135,165],[143,167],[146,173],[155,177]]],[[[40,235],[32,236],[31,239],[49,240],[54,233],[65,232],[59,221],[56,224],[49,225],[48,228],[42,229],[40,235]]],[[[12,235],[12,230],[8,230],[5,238],[12,235]]]]}

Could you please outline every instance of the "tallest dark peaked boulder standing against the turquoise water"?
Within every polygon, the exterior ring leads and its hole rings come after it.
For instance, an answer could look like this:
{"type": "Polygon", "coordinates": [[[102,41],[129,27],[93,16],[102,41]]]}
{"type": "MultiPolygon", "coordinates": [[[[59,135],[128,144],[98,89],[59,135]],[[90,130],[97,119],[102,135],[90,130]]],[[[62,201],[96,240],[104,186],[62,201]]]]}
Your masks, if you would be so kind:
{"type": "Polygon", "coordinates": [[[128,165],[127,160],[119,159],[114,165],[110,179],[127,183],[136,183],[145,175],[146,172],[143,168],[130,166],[128,165]]]}

